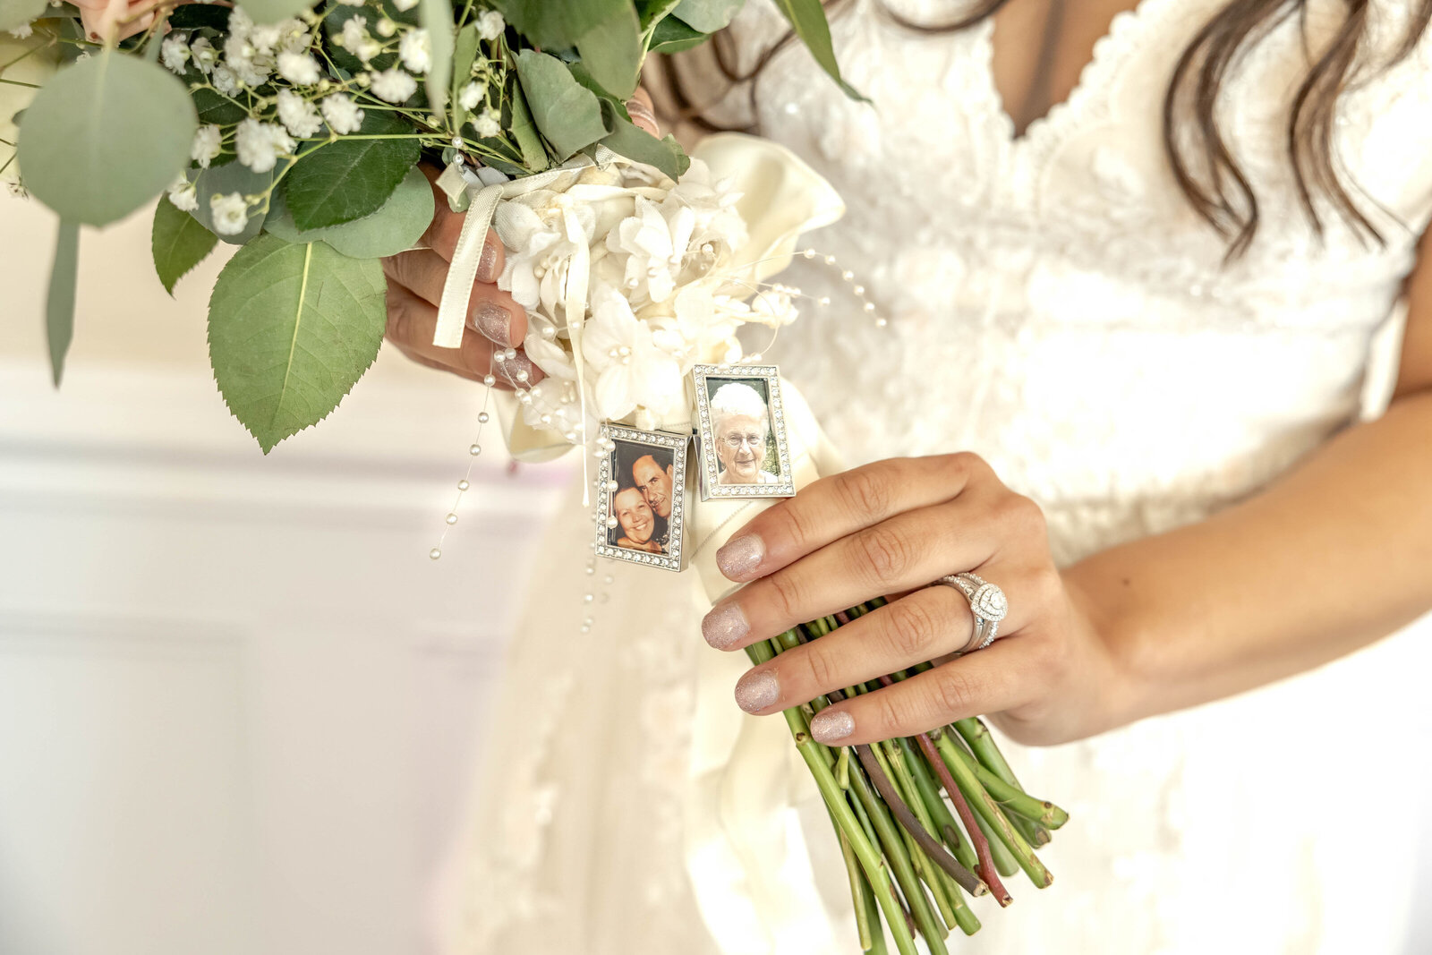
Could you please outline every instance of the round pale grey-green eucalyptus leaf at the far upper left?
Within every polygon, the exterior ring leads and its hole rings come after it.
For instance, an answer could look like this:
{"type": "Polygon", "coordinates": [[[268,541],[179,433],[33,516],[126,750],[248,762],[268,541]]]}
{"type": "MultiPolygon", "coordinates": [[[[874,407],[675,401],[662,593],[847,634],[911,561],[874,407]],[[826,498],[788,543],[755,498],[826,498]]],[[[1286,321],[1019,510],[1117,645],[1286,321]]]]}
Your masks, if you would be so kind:
{"type": "Polygon", "coordinates": [[[102,52],[56,73],[26,110],[24,183],[60,218],[107,225],[173,182],[198,126],[173,73],[102,52]]]}

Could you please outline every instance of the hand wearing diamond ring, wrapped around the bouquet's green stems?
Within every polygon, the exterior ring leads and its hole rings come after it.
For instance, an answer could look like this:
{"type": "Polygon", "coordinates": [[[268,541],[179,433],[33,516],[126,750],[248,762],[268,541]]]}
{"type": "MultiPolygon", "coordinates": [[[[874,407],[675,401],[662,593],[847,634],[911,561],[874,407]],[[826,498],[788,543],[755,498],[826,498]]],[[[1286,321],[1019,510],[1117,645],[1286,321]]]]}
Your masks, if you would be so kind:
{"type": "Polygon", "coordinates": [[[1090,600],[1055,568],[1044,514],[975,454],[879,461],[816,481],[756,515],[716,561],[750,581],[702,621],[722,650],[892,597],[743,674],[736,700],[750,713],[937,663],[822,710],[811,723],[822,742],[871,743],[984,714],[1017,742],[1053,745],[1121,722],[1130,680],[1090,600]],[[1008,616],[990,647],[954,659],[971,643],[969,603],[925,584],[965,570],[1004,590],[1008,616]]]}

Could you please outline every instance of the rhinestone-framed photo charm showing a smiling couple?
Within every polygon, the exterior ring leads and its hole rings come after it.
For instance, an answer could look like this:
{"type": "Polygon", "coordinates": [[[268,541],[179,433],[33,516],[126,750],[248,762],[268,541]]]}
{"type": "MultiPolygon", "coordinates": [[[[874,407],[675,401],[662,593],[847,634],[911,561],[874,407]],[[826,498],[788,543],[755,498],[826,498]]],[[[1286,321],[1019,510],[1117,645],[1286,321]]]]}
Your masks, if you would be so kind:
{"type": "Polygon", "coordinates": [[[690,437],[601,425],[597,465],[597,543],[601,557],[682,570],[690,437]]]}

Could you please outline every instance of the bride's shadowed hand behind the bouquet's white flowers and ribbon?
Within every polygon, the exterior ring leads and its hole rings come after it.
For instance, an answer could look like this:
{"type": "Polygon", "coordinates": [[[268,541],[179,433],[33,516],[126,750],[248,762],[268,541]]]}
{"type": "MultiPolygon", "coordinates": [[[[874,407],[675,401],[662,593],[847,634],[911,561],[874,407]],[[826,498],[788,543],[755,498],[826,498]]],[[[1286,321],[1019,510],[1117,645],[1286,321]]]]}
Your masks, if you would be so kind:
{"type": "MultiPolygon", "coordinates": [[[[646,90],[636,92],[627,103],[627,112],[633,123],[653,136],[660,135],[646,90]]],[[[453,212],[447,196],[437,188],[440,170],[427,163],[418,168],[432,185],[432,223],[421,239],[421,245],[428,248],[382,259],[382,273],[388,278],[388,326],[384,336],[404,355],[428,368],[473,381],[483,381],[491,372],[497,378],[497,387],[507,389],[537,384],[543,378],[541,369],[521,349],[527,336],[527,312],[511,295],[497,288],[504,249],[491,229],[478,261],[463,344],[458,348],[438,348],[432,344],[442,285],[447,282],[457,236],[463,231],[463,213],[453,212]],[[500,362],[493,359],[494,351],[507,348],[517,351],[514,358],[500,362]],[[527,372],[526,381],[520,372],[527,372]]]]}

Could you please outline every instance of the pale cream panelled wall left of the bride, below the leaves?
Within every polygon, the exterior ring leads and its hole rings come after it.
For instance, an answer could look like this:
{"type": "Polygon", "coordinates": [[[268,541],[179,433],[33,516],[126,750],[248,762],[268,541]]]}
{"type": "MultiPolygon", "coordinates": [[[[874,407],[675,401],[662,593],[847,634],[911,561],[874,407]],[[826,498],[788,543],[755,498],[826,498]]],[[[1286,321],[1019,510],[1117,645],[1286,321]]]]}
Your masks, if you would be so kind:
{"type": "Polygon", "coordinates": [[[564,465],[493,434],[430,561],[481,389],[385,351],[265,458],[208,369],[221,261],[169,299],[147,212],[84,232],[56,392],[53,232],[0,199],[0,955],[432,955],[564,465]]]}

